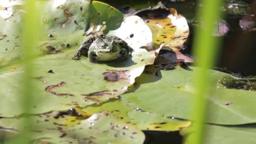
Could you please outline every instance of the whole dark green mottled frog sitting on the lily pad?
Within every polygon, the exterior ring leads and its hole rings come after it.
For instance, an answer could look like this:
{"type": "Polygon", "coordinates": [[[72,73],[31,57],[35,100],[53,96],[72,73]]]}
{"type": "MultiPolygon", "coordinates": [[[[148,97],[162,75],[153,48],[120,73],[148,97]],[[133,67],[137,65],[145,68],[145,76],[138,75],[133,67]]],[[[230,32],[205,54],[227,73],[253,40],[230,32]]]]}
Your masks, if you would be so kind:
{"type": "Polygon", "coordinates": [[[91,62],[123,61],[131,56],[133,49],[117,36],[96,32],[90,35],[75,52],[72,59],[88,56],[91,62]]]}

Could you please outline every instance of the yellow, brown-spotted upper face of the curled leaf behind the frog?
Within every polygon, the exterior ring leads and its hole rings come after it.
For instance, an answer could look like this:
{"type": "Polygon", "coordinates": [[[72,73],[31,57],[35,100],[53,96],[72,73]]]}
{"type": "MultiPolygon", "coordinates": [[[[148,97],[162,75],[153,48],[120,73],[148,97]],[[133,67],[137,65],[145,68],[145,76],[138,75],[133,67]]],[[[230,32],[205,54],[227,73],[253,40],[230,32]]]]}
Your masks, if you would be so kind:
{"type": "Polygon", "coordinates": [[[187,20],[171,8],[167,17],[145,19],[152,30],[155,46],[165,43],[162,49],[179,51],[189,36],[187,20]]]}

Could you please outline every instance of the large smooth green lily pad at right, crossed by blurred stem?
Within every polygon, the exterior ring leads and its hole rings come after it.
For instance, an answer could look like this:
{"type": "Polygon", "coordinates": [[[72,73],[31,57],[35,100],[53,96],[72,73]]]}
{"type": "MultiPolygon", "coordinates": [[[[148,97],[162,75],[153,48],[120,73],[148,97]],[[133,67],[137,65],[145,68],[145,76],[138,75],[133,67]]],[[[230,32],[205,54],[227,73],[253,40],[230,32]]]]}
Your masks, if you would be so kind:
{"type": "MultiPolygon", "coordinates": [[[[161,77],[141,75],[136,79],[135,92],[122,95],[129,105],[139,107],[157,115],[166,115],[190,120],[194,71],[198,68],[176,67],[171,71],[161,71],[161,77]]],[[[215,79],[208,102],[207,123],[238,125],[256,122],[255,91],[227,89],[218,84],[222,72],[208,70],[215,79]]]]}

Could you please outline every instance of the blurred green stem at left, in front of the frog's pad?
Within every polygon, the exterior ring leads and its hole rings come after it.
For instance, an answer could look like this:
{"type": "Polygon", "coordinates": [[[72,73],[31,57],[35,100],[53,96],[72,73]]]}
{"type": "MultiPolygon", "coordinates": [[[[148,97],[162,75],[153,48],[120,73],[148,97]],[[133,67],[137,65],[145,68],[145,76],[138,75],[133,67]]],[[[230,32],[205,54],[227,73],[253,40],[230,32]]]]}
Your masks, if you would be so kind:
{"type": "MultiPolygon", "coordinates": [[[[31,113],[35,102],[33,98],[36,95],[35,85],[33,84],[32,77],[34,74],[33,61],[35,60],[35,53],[37,47],[37,37],[39,33],[39,24],[37,19],[39,18],[37,8],[35,7],[36,0],[27,0],[25,4],[24,16],[22,17],[21,27],[21,43],[22,49],[22,64],[23,64],[23,75],[19,82],[20,94],[21,94],[21,109],[25,114],[31,113]]],[[[13,144],[28,144],[30,143],[30,130],[33,126],[31,119],[26,119],[20,124],[24,129],[21,129],[20,135],[8,141],[13,144]]]]}

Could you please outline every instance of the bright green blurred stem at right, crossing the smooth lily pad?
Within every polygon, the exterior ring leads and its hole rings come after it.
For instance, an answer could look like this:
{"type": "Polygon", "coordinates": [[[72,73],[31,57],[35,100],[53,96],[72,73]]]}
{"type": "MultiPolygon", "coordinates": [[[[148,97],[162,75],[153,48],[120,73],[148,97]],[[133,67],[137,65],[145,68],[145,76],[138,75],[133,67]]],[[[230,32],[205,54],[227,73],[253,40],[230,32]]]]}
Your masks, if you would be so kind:
{"type": "Polygon", "coordinates": [[[206,118],[207,100],[205,96],[209,89],[215,87],[210,85],[211,77],[206,73],[208,68],[212,68],[219,42],[212,36],[215,22],[220,18],[221,0],[199,0],[200,6],[197,13],[200,27],[196,29],[193,52],[197,58],[197,67],[200,70],[195,72],[195,101],[193,101],[192,119],[195,120],[195,135],[191,144],[203,144],[204,121],[206,118]]]}

